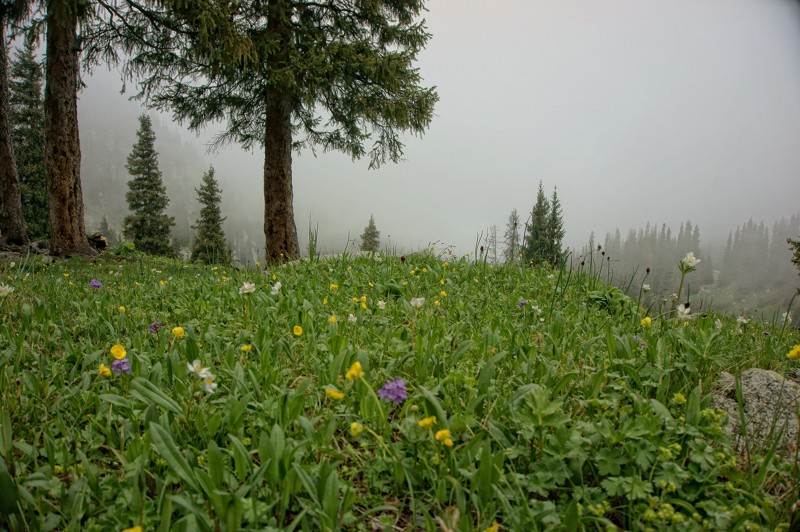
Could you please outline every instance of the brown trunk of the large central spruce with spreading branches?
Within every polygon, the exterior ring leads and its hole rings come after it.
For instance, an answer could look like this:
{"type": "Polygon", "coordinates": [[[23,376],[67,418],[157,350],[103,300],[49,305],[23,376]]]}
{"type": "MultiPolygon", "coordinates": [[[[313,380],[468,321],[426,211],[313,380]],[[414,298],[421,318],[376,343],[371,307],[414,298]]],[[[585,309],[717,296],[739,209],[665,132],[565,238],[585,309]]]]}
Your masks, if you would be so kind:
{"type": "Polygon", "coordinates": [[[264,137],[264,236],[266,262],[297,258],[297,226],[292,193],[292,90],[289,75],[290,13],[285,0],[270,0],[270,33],[277,35],[278,51],[267,58],[270,82],[266,89],[267,128],[264,137]]]}

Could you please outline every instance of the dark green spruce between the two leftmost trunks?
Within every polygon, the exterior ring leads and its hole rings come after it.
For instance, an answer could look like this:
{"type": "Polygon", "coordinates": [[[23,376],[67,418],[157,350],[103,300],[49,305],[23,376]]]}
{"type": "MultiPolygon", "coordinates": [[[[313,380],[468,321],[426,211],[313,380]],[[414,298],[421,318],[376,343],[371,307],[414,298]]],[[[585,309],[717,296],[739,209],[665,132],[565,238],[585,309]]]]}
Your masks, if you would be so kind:
{"type": "Polygon", "coordinates": [[[44,76],[30,34],[25,45],[16,51],[10,77],[9,121],[27,235],[29,239],[49,238],[50,211],[44,173],[44,76]]]}

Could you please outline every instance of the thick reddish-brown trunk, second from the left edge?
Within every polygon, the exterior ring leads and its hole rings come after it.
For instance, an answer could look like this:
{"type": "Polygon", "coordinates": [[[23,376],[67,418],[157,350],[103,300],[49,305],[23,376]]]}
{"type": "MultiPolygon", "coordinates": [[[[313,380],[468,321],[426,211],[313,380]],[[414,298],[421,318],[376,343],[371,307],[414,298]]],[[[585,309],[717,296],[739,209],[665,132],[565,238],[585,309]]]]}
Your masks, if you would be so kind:
{"type": "Polygon", "coordinates": [[[86,239],[78,138],[77,14],[48,1],[45,63],[45,175],[50,203],[50,254],[93,255],[86,239]]]}

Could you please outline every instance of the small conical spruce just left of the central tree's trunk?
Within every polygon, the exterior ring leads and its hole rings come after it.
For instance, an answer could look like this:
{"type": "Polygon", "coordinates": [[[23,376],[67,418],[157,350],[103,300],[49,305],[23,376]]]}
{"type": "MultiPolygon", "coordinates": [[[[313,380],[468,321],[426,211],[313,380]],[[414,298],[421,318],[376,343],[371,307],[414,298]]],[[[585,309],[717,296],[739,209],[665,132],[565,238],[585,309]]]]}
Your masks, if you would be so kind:
{"type": "Polygon", "coordinates": [[[214,167],[208,169],[203,175],[203,184],[197,192],[197,201],[200,202],[200,219],[196,225],[195,238],[192,243],[192,260],[206,264],[230,264],[231,249],[225,241],[225,232],[222,230],[222,190],[214,178],[214,167]]]}

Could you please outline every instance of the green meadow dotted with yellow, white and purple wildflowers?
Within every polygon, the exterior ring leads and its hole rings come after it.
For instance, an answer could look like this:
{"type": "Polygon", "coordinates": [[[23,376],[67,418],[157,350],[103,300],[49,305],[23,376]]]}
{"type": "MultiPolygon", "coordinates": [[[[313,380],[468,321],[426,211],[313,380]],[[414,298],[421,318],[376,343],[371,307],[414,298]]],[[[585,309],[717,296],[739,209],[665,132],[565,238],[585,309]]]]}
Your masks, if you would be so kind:
{"type": "Polygon", "coordinates": [[[798,498],[709,395],[795,370],[786,324],[433,250],[0,272],[6,529],[776,530],[798,498]]]}

